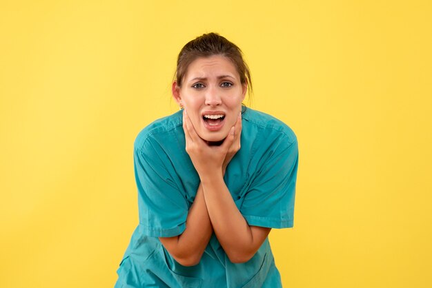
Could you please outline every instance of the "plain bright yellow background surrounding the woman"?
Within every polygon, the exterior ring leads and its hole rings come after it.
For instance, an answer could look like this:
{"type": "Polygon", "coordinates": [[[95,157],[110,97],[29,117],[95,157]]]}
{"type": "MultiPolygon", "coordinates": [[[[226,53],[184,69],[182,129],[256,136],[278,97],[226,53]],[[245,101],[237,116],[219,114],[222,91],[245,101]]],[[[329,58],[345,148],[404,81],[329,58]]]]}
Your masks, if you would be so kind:
{"type": "Polygon", "coordinates": [[[114,285],[133,141],[213,31],[299,140],[284,287],[432,287],[432,4],[379,0],[1,0],[0,287],[114,285]]]}

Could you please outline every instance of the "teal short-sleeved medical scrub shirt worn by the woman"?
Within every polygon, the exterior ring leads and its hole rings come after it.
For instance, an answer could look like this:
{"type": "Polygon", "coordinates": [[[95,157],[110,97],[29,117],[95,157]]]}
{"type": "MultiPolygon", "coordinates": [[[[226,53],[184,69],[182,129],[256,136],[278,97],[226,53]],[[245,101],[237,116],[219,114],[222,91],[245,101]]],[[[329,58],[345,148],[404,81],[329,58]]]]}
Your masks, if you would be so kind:
{"type": "MultiPolygon", "coordinates": [[[[224,180],[249,225],[293,227],[298,148],[294,132],[247,108],[241,149],[224,180]]],[[[199,176],[185,150],[181,111],[139,132],[134,143],[139,225],[117,270],[120,287],[282,287],[268,238],[246,263],[231,263],[215,234],[199,264],[177,263],[158,237],[186,228],[199,176]]]]}

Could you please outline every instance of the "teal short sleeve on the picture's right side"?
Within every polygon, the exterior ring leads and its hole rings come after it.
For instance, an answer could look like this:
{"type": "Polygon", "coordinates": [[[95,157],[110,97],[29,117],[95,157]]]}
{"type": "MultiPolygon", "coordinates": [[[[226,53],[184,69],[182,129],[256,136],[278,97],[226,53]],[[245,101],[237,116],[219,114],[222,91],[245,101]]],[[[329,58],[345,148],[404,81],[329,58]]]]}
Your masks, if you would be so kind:
{"type": "Polygon", "coordinates": [[[268,150],[257,175],[246,192],[240,212],[249,225],[293,227],[295,183],[298,167],[297,138],[291,143],[279,141],[268,150]]]}

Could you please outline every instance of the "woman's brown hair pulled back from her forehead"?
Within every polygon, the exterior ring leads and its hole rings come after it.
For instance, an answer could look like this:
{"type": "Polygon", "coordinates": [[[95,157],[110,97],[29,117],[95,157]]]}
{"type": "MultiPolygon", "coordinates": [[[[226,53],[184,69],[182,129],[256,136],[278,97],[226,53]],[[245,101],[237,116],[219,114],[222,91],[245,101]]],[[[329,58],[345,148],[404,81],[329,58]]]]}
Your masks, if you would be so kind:
{"type": "Polygon", "coordinates": [[[183,81],[190,63],[199,57],[210,57],[213,55],[225,56],[233,62],[239,73],[240,82],[248,85],[248,92],[251,94],[251,72],[249,71],[248,65],[243,60],[242,50],[217,33],[202,34],[202,36],[184,45],[177,58],[177,70],[175,72],[177,86],[181,87],[181,81],[183,81]]]}

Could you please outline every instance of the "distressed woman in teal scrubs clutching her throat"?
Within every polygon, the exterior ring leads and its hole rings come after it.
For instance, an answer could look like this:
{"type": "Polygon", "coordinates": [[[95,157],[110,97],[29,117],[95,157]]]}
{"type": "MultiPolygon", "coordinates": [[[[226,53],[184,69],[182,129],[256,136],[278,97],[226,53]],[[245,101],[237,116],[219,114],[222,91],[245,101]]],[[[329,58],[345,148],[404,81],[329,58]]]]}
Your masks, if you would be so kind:
{"type": "Polygon", "coordinates": [[[242,52],[224,37],[181,50],[181,110],[134,143],[139,225],[115,287],[282,287],[268,234],[293,227],[297,139],[242,106],[248,89],[242,52]]]}

